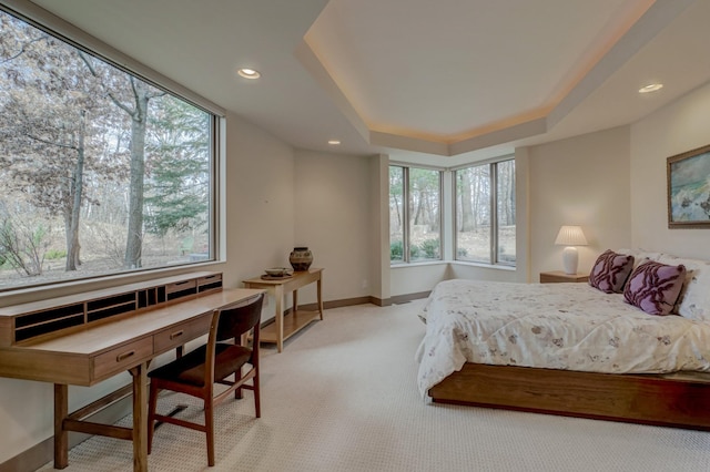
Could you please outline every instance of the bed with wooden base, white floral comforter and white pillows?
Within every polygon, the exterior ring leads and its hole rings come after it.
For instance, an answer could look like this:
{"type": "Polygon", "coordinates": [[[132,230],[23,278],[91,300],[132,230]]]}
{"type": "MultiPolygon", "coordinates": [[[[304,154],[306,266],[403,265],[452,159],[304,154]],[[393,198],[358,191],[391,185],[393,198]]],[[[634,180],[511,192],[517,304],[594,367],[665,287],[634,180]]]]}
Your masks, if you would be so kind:
{"type": "Polygon", "coordinates": [[[710,430],[710,264],[651,253],[632,263],[611,293],[438,284],[419,314],[419,391],[434,402],[710,430]],[[667,316],[625,294],[646,263],[684,269],[667,316]]]}

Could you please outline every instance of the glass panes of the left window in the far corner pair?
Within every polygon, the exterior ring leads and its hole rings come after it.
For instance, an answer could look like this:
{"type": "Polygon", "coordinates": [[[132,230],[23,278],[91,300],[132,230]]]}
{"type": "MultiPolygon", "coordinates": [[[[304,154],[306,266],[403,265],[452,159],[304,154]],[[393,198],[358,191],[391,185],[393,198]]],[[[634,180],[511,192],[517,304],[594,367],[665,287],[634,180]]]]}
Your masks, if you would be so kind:
{"type": "Polygon", "coordinates": [[[389,166],[389,260],[442,258],[442,172],[389,166]]]}

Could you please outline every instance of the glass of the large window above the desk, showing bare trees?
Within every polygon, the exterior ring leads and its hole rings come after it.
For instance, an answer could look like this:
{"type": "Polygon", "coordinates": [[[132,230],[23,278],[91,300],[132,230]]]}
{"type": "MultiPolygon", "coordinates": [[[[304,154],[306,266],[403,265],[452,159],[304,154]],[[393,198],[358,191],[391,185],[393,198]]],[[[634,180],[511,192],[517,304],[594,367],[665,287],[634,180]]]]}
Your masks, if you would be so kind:
{"type": "Polygon", "coordinates": [[[0,290],[213,259],[216,120],[0,11],[0,290]]]}

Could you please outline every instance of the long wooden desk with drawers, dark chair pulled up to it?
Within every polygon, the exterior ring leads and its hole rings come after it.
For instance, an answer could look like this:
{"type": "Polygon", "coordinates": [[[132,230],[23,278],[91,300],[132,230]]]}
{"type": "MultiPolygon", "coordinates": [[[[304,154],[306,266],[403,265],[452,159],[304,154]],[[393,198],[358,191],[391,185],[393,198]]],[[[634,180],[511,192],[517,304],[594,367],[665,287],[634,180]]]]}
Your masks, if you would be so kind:
{"type": "Polygon", "coordinates": [[[133,470],[143,472],[148,470],[146,373],[151,359],[206,334],[213,310],[260,293],[263,290],[220,288],[120,319],[88,324],[67,335],[2,347],[0,376],[54,383],[55,469],[68,465],[68,432],[79,431],[132,440],[133,470]],[[93,386],[125,370],[132,377],[132,429],[80,421],[69,414],[69,384],[93,386]]]}

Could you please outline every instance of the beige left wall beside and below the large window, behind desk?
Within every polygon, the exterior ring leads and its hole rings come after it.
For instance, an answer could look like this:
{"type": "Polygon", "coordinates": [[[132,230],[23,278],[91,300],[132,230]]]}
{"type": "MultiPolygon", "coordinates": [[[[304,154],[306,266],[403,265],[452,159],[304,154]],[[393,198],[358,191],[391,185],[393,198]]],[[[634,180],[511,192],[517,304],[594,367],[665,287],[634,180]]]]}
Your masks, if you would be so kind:
{"type": "MultiPolygon", "coordinates": [[[[225,176],[229,182],[225,202],[229,263],[204,267],[223,271],[225,287],[241,286],[241,280],[261,274],[265,267],[287,264],[288,252],[294,245],[293,173],[290,146],[235,115],[229,116],[225,176]]],[[[122,281],[145,278],[150,276],[126,277],[122,281]]],[[[111,284],[119,281],[102,281],[83,289],[111,284]]],[[[16,297],[4,296],[0,302],[11,305],[81,290],[78,285],[49,290],[50,295],[36,290],[16,297]]],[[[265,317],[273,317],[273,302],[268,304],[265,317]]],[[[158,359],[156,363],[160,362],[158,359]]],[[[70,387],[70,410],[130,381],[124,373],[91,388],[70,387]]],[[[0,378],[0,424],[3,431],[0,463],[50,438],[53,434],[52,384],[0,378]]]]}

